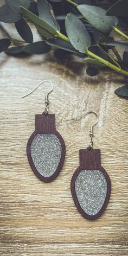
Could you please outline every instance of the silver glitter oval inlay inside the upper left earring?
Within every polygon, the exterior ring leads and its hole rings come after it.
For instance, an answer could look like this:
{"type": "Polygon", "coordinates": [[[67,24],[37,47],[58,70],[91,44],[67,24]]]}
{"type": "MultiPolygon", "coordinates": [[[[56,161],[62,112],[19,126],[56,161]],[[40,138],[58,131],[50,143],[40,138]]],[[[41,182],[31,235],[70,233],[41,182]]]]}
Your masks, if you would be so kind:
{"type": "Polygon", "coordinates": [[[56,171],[61,158],[61,143],[55,134],[37,134],[30,147],[37,171],[50,177],[56,171]]]}

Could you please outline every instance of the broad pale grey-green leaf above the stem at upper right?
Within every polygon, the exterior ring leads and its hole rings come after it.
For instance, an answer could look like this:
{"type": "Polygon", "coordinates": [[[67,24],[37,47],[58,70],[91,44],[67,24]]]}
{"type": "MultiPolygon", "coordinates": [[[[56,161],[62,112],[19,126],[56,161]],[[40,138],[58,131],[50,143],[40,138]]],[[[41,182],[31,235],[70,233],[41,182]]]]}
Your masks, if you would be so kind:
{"type": "Polygon", "coordinates": [[[106,11],[100,7],[82,4],[77,8],[94,28],[104,33],[110,32],[115,25],[114,18],[106,16],[106,11]]]}

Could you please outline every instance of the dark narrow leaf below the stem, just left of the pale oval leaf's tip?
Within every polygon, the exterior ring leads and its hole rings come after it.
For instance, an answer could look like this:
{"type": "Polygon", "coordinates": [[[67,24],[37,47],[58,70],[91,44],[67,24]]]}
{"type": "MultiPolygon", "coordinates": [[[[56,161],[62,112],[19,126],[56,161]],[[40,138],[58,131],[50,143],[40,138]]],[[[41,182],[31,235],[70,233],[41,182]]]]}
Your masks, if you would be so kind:
{"type": "Polygon", "coordinates": [[[72,46],[71,43],[65,40],[62,40],[60,38],[53,39],[53,40],[46,40],[46,42],[49,44],[49,46],[54,46],[63,50],[68,50],[68,52],[71,52],[71,53],[82,55],[77,50],[75,50],[75,48],[72,46]]]}

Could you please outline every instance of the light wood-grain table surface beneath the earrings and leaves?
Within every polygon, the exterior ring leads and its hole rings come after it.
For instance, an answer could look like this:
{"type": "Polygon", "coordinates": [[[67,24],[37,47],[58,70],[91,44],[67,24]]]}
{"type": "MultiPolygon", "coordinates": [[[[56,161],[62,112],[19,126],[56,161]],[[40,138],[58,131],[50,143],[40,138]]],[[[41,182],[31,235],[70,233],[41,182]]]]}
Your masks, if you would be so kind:
{"type": "Polygon", "coordinates": [[[127,100],[114,90],[124,77],[102,71],[90,78],[76,57],[57,60],[53,53],[30,57],[1,54],[1,246],[0,255],[83,256],[128,255],[127,248],[127,100]],[[43,183],[28,164],[26,144],[34,131],[34,115],[44,110],[47,85],[29,97],[41,80],[53,82],[49,113],[66,143],[60,175],[43,183]],[[94,117],[66,122],[95,111],[94,149],[112,181],[111,199],[95,221],[74,206],[70,181],[79,165],[79,149],[89,143],[94,117]]]}

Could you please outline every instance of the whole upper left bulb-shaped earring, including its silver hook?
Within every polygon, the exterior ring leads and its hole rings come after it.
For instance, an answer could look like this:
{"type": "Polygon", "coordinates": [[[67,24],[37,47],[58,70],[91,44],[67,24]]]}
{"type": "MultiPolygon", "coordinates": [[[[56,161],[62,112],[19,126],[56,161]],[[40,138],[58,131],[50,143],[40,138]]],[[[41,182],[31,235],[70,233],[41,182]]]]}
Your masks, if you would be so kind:
{"type": "Polygon", "coordinates": [[[44,82],[48,82],[51,89],[46,93],[45,109],[42,114],[35,114],[35,131],[27,143],[27,157],[34,174],[44,182],[53,181],[62,169],[65,161],[65,142],[55,129],[55,114],[49,114],[48,95],[53,91],[50,81],[44,80],[33,91],[24,95],[27,97],[44,82]]]}

